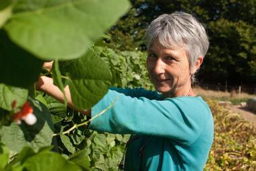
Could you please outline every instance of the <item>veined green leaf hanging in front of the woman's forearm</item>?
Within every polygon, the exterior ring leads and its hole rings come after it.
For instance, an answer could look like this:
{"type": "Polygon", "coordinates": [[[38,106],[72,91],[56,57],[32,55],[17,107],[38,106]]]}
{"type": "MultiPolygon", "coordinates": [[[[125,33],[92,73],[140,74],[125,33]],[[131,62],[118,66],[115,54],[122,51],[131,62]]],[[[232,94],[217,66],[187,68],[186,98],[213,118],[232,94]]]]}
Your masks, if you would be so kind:
{"type": "Polygon", "coordinates": [[[108,91],[112,75],[92,50],[69,64],[69,89],[75,108],[88,109],[108,91]]]}

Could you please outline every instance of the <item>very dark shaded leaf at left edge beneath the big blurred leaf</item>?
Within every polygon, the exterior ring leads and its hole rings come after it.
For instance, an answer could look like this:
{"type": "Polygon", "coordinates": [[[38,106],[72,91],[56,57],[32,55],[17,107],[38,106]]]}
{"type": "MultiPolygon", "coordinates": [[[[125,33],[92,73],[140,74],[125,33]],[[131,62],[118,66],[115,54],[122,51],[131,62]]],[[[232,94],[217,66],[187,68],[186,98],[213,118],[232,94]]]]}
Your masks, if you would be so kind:
{"type": "Polygon", "coordinates": [[[42,60],[13,44],[0,30],[0,83],[28,88],[38,80],[42,63],[42,60]]]}

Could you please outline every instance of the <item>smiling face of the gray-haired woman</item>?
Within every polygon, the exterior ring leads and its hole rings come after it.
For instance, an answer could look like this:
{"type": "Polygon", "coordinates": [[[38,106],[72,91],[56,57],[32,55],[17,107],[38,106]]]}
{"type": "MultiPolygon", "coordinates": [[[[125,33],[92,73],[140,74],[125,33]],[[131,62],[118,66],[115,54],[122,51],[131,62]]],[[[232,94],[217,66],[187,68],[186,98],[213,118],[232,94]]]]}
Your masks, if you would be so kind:
{"type": "Polygon", "coordinates": [[[170,49],[154,43],[148,50],[147,68],[156,90],[164,95],[175,96],[191,88],[188,55],[181,47],[170,49]]]}

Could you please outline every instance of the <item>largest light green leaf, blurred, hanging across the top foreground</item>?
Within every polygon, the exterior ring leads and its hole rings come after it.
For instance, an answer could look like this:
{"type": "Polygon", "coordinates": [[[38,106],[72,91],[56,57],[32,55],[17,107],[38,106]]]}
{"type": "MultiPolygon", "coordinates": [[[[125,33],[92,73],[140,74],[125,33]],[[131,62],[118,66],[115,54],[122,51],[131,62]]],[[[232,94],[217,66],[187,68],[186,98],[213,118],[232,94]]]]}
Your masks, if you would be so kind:
{"type": "Polygon", "coordinates": [[[127,0],[20,0],[4,29],[41,59],[75,59],[128,7],[127,0]]]}

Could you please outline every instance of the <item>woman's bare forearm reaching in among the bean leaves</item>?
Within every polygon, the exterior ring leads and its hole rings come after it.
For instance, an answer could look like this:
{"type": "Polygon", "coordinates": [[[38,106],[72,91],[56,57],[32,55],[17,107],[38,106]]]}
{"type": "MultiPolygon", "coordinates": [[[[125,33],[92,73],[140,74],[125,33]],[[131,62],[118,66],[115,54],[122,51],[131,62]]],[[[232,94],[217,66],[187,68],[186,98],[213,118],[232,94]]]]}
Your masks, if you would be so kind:
{"type": "MultiPolygon", "coordinates": [[[[49,96],[52,96],[53,98],[59,100],[60,102],[64,102],[65,100],[63,92],[61,92],[61,90],[59,90],[59,88],[53,84],[53,79],[50,77],[40,76],[38,79],[38,82],[36,83],[36,89],[41,92],[45,92],[46,94],[49,94],[49,96]]],[[[75,107],[73,106],[73,102],[71,100],[69,86],[66,86],[64,88],[64,92],[67,98],[68,106],[75,109],[75,107]]],[[[82,114],[86,114],[87,116],[91,116],[90,110],[77,110],[77,111],[81,112],[82,114]]]]}

